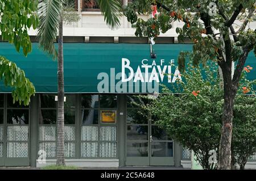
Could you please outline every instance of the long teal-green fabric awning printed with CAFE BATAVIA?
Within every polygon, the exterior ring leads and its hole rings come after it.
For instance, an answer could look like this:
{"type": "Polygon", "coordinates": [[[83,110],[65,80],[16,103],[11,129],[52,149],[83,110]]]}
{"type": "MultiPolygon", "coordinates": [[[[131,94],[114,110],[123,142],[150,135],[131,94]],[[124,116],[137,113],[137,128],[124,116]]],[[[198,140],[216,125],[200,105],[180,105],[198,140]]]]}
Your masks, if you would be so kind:
{"type": "MultiPolygon", "coordinates": [[[[0,54],[23,69],[36,92],[57,92],[57,62],[32,43],[27,57],[16,52],[13,45],[0,43],[0,54]],[[35,71],[36,70],[36,71],[35,71]]],[[[155,44],[158,58],[150,58],[148,44],[64,44],[65,93],[154,93],[161,85],[172,89],[181,79],[176,58],[181,50],[191,51],[191,44],[155,44]],[[175,59],[175,60],[174,60],[175,59]]],[[[246,65],[256,67],[253,51],[246,65]]],[[[247,76],[255,79],[253,69],[247,76]]],[[[11,92],[0,81],[0,92],[11,92]]]]}

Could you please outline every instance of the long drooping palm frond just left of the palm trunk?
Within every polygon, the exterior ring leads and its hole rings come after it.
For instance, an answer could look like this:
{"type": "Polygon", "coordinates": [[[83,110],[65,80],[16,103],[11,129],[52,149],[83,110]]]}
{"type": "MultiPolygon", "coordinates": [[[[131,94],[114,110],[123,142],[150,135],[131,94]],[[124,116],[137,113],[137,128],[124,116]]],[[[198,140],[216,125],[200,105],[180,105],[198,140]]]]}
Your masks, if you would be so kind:
{"type": "Polygon", "coordinates": [[[63,0],[42,0],[39,7],[39,48],[53,58],[57,57],[54,42],[58,35],[62,6],[63,0]]]}

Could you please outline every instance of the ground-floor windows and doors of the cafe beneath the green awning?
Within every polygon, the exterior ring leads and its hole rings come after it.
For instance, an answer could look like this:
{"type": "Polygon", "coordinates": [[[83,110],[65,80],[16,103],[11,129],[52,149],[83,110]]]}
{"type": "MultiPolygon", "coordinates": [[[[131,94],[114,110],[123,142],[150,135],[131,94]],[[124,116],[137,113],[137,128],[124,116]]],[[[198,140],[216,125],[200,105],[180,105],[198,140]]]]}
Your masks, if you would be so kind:
{"type": "MultiPolygon", "coordinates": [[[[138,108],[130,106],[132,95],[67,94],[66,99],[67,165],[174,166],[174,157],[179,165],[180,145],[150,117],[141,119],[138,108]]],[[[55,94],[36,94],[28,107],[12,102],[11,94],[1,94],[1,166],[55,163],[55,94]]]]}

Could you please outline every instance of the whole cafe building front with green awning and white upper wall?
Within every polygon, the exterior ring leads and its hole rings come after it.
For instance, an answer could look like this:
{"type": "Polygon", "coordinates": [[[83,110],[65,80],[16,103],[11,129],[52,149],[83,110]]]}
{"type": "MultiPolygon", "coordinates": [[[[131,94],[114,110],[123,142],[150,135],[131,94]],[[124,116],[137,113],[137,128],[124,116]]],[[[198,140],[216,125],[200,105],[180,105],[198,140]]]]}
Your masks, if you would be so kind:
{"type": "MultiPolygon", "coordinates": [[[[177,56],[180,50],[192,49],[189,42],[177,41],[176,27],[183,24],[173,23],[171,30],[158,37],[152,59],[148,38],[135,37],[124,16],[121,26],[111,30],[97,4],[89,2],[76,0],[81,19],[64,27],[67,165],[191,167],[191,151],[168,137],[150,112],[141,114],[133,104],[137,102],[134,95],[154,94],[160,83],[170,86],[179,78],[177,56]],[[176,76],[162,77],[163,71],[176,76]]],[[[28,57],[15,52],[13,45],[0,43],[0,54],[22,68],[36,88],[30,105],[24,107],[13,104],[11,90],[0,83],[0,166],[42,167],[56,162],[57,62],[38,49],[35,35],[31,30],[28,57]]],[[[251,53],[247,62],[256,67],[254,60],[251,53]]],[[[255,70],[249,79],[255,79],[255,70]]],[[[254,156],[247,168],[255,164],[254,156]]]]}

